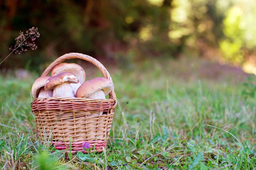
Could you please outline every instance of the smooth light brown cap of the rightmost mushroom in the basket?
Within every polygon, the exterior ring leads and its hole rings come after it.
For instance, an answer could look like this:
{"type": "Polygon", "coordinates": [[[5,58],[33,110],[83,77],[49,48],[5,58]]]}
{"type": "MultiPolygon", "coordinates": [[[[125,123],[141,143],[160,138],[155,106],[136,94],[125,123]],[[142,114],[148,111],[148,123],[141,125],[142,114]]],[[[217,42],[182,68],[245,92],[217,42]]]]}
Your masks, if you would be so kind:
{"type": "Polygon", "coordinates": [[[105,77],[96,77],[91,80],[85,81],[76,91],[77,98],[86,98],[97,92],[102,90],[107,96],[113,89],[113,83],[105,77]]]}

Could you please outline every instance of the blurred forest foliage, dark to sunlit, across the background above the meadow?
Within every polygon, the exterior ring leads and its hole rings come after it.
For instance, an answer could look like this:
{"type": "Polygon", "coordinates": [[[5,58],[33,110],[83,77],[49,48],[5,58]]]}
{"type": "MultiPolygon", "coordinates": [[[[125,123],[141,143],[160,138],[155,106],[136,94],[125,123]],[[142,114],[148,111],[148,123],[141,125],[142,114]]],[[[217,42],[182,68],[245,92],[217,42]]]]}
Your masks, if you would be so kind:
{"type": "Polygon", "coordinates": [[[0,69],[41,70],[68,52],[121,64],[216,57],[219,46],[226,61],[242,62],[256,44],[255,8],[252,0],[3,0],[0,58],[20,31],[38,27],[40,38],[37,50],[13,55],[0,69]]]}

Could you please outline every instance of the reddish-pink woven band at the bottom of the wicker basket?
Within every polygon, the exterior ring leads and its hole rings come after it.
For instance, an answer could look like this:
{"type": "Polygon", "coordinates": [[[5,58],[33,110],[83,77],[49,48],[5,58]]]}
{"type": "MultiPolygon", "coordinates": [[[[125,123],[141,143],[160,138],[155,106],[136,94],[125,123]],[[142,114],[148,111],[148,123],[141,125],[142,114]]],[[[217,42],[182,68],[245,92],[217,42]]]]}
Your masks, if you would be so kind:
{"type": "Polygon", "coordinates": [[[76,152],[88,153],[88,151],[86,151],[83,148],[83,145],[85,143],[88,143],[89,147],[92,148],[92,150],[90,150],[90,152],[102,152],[103,148],[106,147],[107,141],[106,140],[105,141],[90,140],[90,141],[72,142],[71,148],[70,148],[70,142],[52,142],[52,145],[57,150],[65,150],[65,152],[67,152],[67,153],[70,153],[70,151],[71,151],[71,153],[76,153],[76,152]]]}

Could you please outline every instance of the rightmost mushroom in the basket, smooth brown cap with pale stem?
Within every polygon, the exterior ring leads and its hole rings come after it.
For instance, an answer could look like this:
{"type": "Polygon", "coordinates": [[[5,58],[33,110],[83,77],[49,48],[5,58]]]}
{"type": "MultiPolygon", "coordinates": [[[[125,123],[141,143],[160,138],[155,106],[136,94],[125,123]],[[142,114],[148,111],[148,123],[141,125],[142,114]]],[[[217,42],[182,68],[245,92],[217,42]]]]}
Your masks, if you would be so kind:
{"type": "MultiPolygon", "coordinates": [[[[113,83],[104,77],[85,81],[76,91],[77,98],[105,99],[113,89],[113,83]]],[[[102,115],[103,111],[90,111],[91,116],[102,115]]]]}

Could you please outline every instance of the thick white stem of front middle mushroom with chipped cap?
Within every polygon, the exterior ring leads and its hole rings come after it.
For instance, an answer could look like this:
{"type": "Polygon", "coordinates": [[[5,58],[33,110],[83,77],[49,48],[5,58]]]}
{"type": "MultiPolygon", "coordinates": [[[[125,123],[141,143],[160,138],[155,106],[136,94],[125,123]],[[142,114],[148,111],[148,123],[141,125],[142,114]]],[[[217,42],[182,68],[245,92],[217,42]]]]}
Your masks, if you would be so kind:
{"type": "Polygon", "coordinates": [[[53,97],[75,97],[75,93],[70,83],[64,82],[54,86],[53,97]]]}

